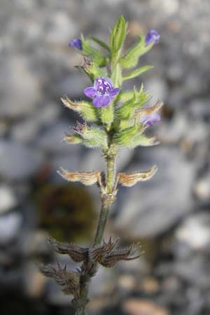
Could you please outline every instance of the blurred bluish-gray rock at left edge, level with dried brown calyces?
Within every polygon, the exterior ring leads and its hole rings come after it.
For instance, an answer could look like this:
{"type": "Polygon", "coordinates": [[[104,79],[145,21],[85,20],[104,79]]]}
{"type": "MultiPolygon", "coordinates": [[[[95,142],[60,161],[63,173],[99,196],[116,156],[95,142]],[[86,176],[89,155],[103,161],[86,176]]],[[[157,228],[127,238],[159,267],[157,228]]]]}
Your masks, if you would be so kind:
{"type": "Polygon", "coordinates": [[[0,141],[0,175],[8,180],[23,180],[34,175],[43,164],[43,155],[13,141],[0,141]]]}

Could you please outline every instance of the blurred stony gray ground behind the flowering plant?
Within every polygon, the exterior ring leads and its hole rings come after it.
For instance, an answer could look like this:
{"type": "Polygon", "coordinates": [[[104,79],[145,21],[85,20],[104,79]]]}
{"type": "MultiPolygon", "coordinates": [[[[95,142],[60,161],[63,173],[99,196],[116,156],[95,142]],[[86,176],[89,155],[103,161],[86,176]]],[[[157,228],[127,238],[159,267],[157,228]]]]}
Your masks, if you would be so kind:
{"type": "Polygon", "coordinates": [[[89,314],[210,314],[210,1],[0,0],[0,305],[2,315],[73,314],[70,300],[36,262],[66,263],[48,234],[89,245],[99,190],[71,185],[58,167],[103,170],[102,153],[62,143],[76,122],[60,97],[83,97],[88,78],[68,47],[80,33],[109,40],[123,13],[126,47],[157,29],[160,44],[141,58],[153,64],[125,89],[144,82],[165,102],[153,127],[160,146],[122,151],[121,172],[158,165],[151,181],[120,188],[106,237],[141,241],[144,255],[99,269],[89,314]]]}

